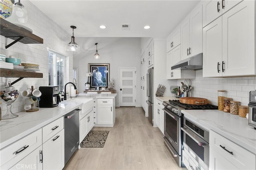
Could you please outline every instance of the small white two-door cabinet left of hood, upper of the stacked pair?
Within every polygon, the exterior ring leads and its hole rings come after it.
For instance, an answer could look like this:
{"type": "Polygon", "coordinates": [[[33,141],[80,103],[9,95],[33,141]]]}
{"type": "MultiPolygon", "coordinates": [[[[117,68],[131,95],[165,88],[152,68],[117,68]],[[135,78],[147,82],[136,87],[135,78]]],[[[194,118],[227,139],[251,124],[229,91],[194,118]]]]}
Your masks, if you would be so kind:
{"type": "Polygon", "coordinates": [[[166,39],[166,52],[168,53],[178,45],[180,45],[180,25],[170,33],[170,35],[166,39]]]}

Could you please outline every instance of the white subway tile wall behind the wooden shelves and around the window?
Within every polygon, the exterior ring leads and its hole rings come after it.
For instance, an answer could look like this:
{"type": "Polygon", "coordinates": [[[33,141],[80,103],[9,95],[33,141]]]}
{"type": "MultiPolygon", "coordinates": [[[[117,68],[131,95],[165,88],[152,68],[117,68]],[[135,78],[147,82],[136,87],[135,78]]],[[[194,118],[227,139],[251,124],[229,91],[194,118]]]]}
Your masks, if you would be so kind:
{"type": "MultiPolygon", "coordinates": [[[[39,88],[39,86],[48,86],[48,49],[53,49],[64,56],[67,56],[67,76],[66,82],[72,81],[72,64],[73,57],[70,54],[65,53],[65,45],[70,42],[71,33],[67,33],[59,25],[57,25],[48,16],[42,13],[36,6],[34,6],[30,1],[24,0],[22,4],[28,11],[28,23],[26,26],[33,30],[33,33],[42,39],[44,39],[43,44],[22,44],[15,43],[8,49],[5,46],[11,43],[13,40],[7,39],[0,36],[0,49],[1,54],[14,56],[22,60],[22,63],[32,63],[40,65],[40,72],[43,73],[43,78],[24,78],[19,82],[15,83],[13,86],[19,91],[27,90],[27,88],[39,88]]],[[[0,88],[2,89],[7,85],[8,79],[13,82],[18,78],[0,78],[0,88]]],[[[24,110],[24,100],[22,96],[13,103],[12,112],[17,113],[24,110]]],[[[6,105],[2,105],[2,114],[6,113],[6,105]]]]}

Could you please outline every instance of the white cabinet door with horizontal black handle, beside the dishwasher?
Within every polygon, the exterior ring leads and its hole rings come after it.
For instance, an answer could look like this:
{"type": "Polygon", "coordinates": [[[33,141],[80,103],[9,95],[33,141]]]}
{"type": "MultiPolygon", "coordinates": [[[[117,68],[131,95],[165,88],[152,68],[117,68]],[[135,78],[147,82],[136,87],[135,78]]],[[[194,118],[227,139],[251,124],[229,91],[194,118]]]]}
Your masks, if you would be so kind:
{"type": "Polygon", "coordinates": [[[43,169],[62,170],[64,167],[64,129],[43,144],[43,169]]]}

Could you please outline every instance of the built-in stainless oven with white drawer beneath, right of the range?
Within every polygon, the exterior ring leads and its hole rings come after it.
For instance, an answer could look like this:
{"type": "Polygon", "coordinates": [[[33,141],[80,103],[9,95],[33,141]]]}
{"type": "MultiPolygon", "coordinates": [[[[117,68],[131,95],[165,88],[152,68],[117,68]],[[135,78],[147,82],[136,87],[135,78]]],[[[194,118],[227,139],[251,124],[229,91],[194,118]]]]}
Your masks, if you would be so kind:
{"type": "Polygon", "coordinates": [[[209,168],[209,131],[183,117],[183,163],[195,169],[209,168]],[[185,156],[188,155],[188,158],[185,156]],[[189,160],[189,161],[186,161],[189,160]],[[194,166],[195,167],[194,167],[194,166]]]}

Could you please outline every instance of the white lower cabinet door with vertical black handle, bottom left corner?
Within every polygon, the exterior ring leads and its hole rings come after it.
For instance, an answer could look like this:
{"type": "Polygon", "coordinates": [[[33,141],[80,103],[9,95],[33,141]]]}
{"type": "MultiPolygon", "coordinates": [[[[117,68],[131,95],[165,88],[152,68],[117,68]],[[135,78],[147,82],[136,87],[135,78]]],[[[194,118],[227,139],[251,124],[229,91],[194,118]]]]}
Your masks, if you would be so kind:
{"type": "MultiPolygon", "coordinates": [[[[20,160],[18,163],[16,163],[14,166],[12,166],[11,170],[42,170],[43,164],[42,164],[42,145],[35,149],[33,152],[28,154],[25,158],[20,160]]],[[[54,160],[52,160],[54,161],[54,160]]],[[[54,168],[49,168],[54,169],[54,168]]]]}

